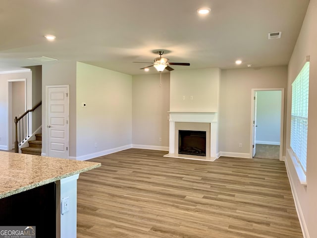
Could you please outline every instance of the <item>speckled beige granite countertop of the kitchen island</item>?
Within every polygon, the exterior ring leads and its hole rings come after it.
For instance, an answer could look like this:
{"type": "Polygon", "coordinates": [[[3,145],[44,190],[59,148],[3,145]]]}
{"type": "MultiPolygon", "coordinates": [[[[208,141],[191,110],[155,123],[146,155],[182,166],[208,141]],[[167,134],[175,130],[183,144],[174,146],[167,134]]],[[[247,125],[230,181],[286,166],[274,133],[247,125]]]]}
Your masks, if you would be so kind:
{"type": "Polygon", "coordinates": [[[95,162],[0,151],[0,199],[100,166],[95,162]]]}

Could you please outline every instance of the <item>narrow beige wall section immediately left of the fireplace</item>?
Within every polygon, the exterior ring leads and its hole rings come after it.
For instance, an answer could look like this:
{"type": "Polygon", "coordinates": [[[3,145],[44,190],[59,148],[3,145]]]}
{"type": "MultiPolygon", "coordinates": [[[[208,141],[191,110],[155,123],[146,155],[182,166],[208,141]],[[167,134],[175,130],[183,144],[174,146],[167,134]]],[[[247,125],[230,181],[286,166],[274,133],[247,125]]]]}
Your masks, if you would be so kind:
{"type": "Polygon", "coordinates": [[[168,150],[169,73],[133,76],[132,143],[134,147],[168,150]],[[161,141],[159,141],[161,138],[161,141]]]}

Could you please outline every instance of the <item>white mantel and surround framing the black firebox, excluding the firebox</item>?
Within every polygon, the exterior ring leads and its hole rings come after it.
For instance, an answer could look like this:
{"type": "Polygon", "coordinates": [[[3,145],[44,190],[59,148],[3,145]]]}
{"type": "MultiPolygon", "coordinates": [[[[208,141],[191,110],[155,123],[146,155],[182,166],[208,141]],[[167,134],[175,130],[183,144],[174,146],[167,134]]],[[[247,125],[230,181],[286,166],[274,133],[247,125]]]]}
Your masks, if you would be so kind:
{"type": "Polygon", "coordinates": [[[215,112],[169,112],[169,153],[164,157],[214,161],[217,156],[218,121],[215,112]],[[206,156],[180,154],[179,130],[206,132],[206,156]]]}

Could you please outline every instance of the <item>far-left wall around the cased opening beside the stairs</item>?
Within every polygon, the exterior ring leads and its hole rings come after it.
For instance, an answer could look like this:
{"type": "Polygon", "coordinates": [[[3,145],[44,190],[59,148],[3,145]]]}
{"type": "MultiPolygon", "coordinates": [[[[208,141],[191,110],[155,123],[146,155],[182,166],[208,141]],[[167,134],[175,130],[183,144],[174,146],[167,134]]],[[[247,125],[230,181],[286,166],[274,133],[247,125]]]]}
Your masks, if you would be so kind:
{"type": "MultiPolygon", "coordinates": [[[[9,88],[8,80],[26,79],[26,107],[32,108],[32,74],[31,72],[0,74],[0,149],[10,149],[9,141],[9,88]]],[[[13,123],[13,122],[12,122],[13,123]]],[[[14,123],[13,123],[14,124],[14,123]]]]}

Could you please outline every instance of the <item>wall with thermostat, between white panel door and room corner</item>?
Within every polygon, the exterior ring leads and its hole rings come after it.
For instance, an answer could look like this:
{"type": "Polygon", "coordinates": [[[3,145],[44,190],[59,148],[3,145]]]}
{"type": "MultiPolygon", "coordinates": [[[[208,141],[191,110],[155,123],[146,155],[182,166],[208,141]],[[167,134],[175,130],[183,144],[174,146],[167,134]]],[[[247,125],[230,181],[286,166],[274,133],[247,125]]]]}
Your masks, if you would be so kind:
{"type": "Polygon", "coordinates": [[[77,62],[76,77],[77,160],[131,147],[132,76],[77,62]]]}

